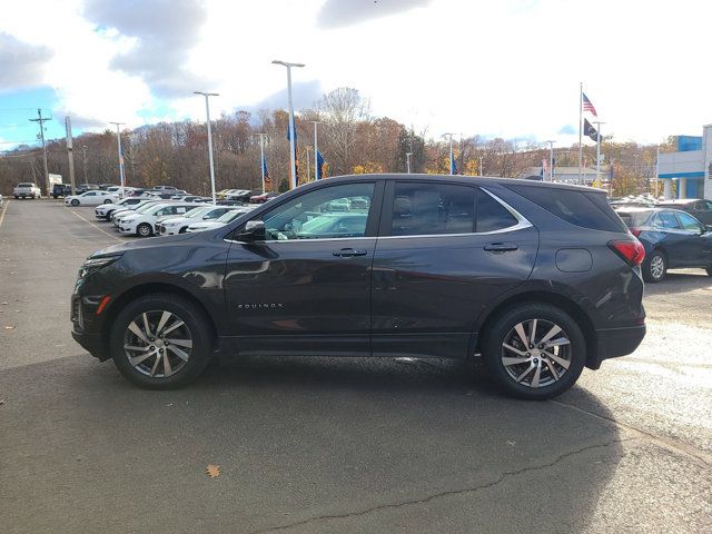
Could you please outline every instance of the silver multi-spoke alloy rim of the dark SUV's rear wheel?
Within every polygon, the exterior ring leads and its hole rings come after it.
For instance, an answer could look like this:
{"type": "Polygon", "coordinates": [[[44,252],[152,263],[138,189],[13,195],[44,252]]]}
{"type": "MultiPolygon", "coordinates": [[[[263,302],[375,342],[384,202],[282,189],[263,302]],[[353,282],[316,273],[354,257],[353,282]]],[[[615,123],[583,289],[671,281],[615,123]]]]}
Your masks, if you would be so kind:
{"type": "Polygon", "coordinates": [[[572,363],[568,336],[558,325],[545,319],[515,325],[504,337],[501,354],[507,375],[532,388],[558,382],[572,363]]]}

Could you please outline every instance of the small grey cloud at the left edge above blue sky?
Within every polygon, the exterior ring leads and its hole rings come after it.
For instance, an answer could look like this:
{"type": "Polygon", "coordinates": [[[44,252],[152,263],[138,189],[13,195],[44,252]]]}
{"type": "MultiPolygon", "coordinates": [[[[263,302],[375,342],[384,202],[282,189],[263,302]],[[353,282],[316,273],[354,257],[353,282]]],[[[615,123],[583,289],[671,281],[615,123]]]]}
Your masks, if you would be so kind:
{"type": "Polygon", "coordinates": [[[0,91],[39,86],[51,57],[49,48],[0,32],[0,91]]]}

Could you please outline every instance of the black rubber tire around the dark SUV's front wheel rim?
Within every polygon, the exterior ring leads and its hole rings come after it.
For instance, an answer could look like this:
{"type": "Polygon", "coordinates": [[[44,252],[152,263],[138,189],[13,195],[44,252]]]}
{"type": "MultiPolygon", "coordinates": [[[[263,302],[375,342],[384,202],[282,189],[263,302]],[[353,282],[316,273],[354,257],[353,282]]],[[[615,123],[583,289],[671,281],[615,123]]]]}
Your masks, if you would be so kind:
{"type": "MultiPolygon", "coordinates": [[[[109,343],[115,365],[129,382],[148,389],[171,389],[182,387],[200,376],[211,360],[212,342],[214,335],[208,318],[198,306],[177,295],[159,293],[137,298],[125,306],[113,320],[109,343]],[[169,312],[182,320],[192,340],[189,359],[170,376],[158,376],[160,373],[157,373],[157,376],[151,377],[144,374],[131,365],[129,355],[123,349],[129,325],[141,314],[155,310],[169,312]]],[[[166,353],[168,354],[168,350],[166,353]]],[[[157,357],[151,356],[146,360],[146,365],[155,364],[156,359],[157,357]]],[[[175,357],[174,360],[176,362],[175,357]]],[[[162,360],[157,364],[158,367],[160,363],[162,360]]],[[[165,367],[162,370],[165,374],[165,367]]]]}

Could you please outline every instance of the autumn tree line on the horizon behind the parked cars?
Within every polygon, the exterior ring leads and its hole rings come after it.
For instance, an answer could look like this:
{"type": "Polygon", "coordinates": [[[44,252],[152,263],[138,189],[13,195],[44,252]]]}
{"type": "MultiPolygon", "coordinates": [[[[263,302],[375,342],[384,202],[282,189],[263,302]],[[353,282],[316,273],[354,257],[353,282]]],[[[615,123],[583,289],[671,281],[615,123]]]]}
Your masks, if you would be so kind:
{"type": "MultiPolygon", "coordinates": [[[[326,176],[368,172],[405,172],[411,154],[412,172],[448,174],[449,145],[428,138],[427,130],[388,117],[374,117],[369,102],[358,90],[339,88],[325,93],[295,119],[298,140],[300,184],[313,180],[314,126],[318,121],[318,149],[327,162],[326,176]]],[[[265,156],[271,190],[288,188],[288,113],[284,110],[238,110],[211,122],[216,187],[260,189],[260,147],[257,134],[266,134],[265,156]]],[[[661,151],[673,150],[673,138],[661,151]]],[[[210,177],[205,122],[191,120],[146,125],[121,132],[126,184],[151,187],[170,184],[196,194],[208,194],[210,177]]],[[[65,139],[47,144],[49,172],[69,182],[69,164],[65,139]]],[[[459,174],[514,178],[528,167],[548,160],[548,149],[534,142],[511,139],[463,137],[455,142],[455,161],[459,174]]],[[[75,176],[78,184],[118,184],[116,132],[86,132],[73,139],[75,176]],[[85,158],[86,155],[86,158],[85,158]]],[[[655,147],[636,142],[614,142],[604,138],[602,154],[613,162],[615,195],[649,190],[654,177],[655,147]]],[[[584,147],[593,166],[595,147],[584,147]]],[[[578,165],[577,146],[555,149],[557,166],[578,165]]],[[[0,155],[0,192],[10,195],[20,181],[44,187],[41,148],[20,146],[0,155]]]]}

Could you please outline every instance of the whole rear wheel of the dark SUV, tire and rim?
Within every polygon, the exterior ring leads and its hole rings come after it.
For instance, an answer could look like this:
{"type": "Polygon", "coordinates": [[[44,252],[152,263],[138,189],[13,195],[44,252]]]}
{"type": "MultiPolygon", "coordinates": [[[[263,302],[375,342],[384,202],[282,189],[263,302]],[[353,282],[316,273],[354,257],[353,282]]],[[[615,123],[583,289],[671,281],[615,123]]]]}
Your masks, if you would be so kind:
{"type": "Polygon", "coordinates": [[[586,343],[568,314],[532,303],[510,308],[495,320],[485,333],[482,355],[490,375],[506,393],[546,399],[578,379],[586,343]]]}

